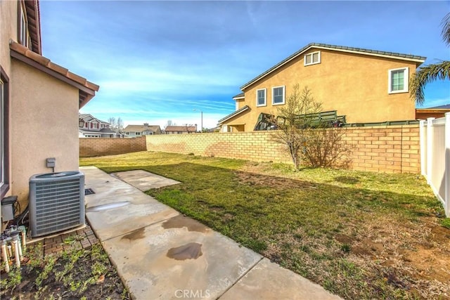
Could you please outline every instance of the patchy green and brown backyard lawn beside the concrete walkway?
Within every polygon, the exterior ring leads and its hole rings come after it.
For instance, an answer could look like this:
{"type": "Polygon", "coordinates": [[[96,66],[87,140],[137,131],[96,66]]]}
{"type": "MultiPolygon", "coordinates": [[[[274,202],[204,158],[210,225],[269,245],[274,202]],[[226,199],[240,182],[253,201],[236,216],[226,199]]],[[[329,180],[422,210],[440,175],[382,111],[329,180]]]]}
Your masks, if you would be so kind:
{"type": "Polygon", "coordinates": [[[147,193],[345,299],[450,299],[450,230],[422,176],[162,152],[80,165],[181,181],[147,193]]]}

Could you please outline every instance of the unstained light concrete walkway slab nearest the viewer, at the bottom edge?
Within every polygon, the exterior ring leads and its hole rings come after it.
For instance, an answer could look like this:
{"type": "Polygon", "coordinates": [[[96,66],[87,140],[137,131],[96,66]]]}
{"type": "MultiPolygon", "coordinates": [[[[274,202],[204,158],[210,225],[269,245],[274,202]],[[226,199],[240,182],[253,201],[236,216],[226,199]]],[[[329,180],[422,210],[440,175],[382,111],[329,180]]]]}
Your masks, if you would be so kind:
{"type": "Polygon", "coordinates": [[[341,298],[330,294],[320,285],[302,278],[293,271],[271,263],[269,259],[262,259],[219,299],[332,300],[341,298]]]}

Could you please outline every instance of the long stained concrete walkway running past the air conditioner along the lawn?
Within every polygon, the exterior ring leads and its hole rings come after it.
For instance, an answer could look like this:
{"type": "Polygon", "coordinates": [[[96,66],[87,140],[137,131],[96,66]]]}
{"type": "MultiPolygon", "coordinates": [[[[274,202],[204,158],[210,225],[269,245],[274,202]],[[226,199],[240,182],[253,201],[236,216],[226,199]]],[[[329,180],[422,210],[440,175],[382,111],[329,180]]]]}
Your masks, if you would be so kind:
{"type": "Polygon", "coordinates": [[[119,178],[80,170],[96,192],[86,217],[132,299],[340,299],[119,178]]]}

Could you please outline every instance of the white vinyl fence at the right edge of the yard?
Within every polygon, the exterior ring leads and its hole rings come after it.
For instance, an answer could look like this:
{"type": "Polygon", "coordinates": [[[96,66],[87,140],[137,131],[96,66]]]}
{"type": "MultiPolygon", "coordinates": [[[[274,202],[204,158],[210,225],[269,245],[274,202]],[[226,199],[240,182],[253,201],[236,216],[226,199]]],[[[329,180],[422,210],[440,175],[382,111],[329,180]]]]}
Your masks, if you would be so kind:
{"type": "Polygon", "coordinates": [[[420,121],[420,169],[450,217],[450,112],[420,121]]]}

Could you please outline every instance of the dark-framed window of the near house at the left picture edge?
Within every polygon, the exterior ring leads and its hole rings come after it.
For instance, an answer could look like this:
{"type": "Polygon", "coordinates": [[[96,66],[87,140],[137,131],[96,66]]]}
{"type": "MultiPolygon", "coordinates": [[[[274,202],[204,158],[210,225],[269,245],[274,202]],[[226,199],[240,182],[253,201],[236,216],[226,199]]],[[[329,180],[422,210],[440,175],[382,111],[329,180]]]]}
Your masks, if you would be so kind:
{"type": "Polygon", "coordinates": [[[8,77],[0,67],[0,198],[9,189],[8,77]]]}

